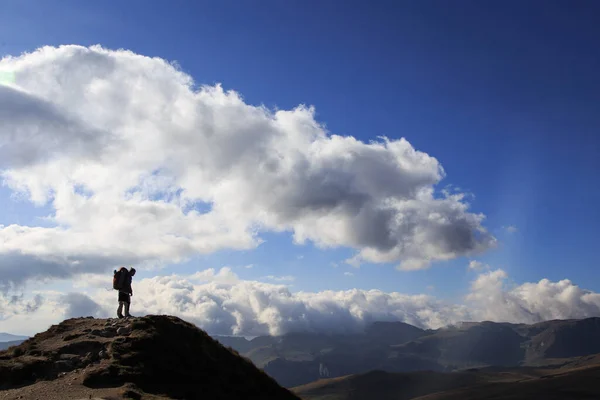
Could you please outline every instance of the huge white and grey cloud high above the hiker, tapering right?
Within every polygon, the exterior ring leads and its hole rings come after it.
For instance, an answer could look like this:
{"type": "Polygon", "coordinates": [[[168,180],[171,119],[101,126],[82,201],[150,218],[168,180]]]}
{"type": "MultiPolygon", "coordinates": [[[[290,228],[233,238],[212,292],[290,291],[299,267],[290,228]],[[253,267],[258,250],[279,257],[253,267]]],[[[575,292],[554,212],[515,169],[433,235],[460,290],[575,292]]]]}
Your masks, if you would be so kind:
{"type": "Polygon", "coordinates": [[[44,47],[0,71],[1,176],[53,210],[52,226],[0,226],[0,254],[23,257],[28,278],[252,249],[265,231],[402,269],[494,245],[404,138],[330,134],[311,107],[249,105],[124,50],[44,47]]]}

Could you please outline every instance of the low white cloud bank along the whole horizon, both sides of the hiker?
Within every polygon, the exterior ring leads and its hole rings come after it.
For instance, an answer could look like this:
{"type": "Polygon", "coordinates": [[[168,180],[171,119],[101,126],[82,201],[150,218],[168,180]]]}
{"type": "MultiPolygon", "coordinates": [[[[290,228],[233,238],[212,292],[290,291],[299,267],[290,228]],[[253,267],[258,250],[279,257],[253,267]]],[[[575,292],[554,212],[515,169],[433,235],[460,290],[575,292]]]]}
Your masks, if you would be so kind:
{"type": "MultiPolygon", "coordinates": [[[[0,295],[0,331],[31,334],[66,317],[115,315],[115,293],[104,276],[86,275],[80,282],[80,292],[68,295],[0,295]]],[[[134,315],[177,315],[211,334],[351,333],[372,321],[440,328],[461,321],[534,323],[600,315],[599,293],[569,280],[514,286],[500,269],[478,273],[459,304],[380,290],[293,293],[285,285],[241,280],[229,268],[142,279],[134,290],[134,315]]]]}

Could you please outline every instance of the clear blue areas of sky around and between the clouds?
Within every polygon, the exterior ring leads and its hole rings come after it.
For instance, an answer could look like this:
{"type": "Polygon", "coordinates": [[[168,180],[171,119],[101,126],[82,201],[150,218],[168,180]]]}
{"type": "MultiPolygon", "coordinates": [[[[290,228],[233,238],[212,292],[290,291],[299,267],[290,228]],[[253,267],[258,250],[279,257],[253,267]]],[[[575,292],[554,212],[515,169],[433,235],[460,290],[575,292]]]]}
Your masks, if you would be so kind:
{"type": "MultiPolygon", "coordinates": [[[[176,60],[197,83],[220,82],[247,103],[314,105],[332,133],[406,137],[436,157],[499,247],[478,260],[516,282],[569,278],[600,290],[600,28],[593,2],[8,1],[0,52],[101,44],[176,60]],[[504,227],[517,227],[509,233],[504,227]]],[[[0,191],[0,223],[34,209],[0,191]]],[[[28,222],[29,221],[29,222],[28,222]]],[[[38,222],[35,222],[38,223],[38,222]]],[[[198,256],[169,270],[225,265],[243,279],[293,275],[294,290],[379,288],[453,298],[468,259],[399,272],[343,264],[348,249],[295,246],[267,233],[253,251],[198,256]],[[332,268],[331,263],[339,263],[332,268]],[[353,277],[343,272],[354,273],[353,277]]],[[[153,272],[148,272],[150,276],[153,272]]]]}

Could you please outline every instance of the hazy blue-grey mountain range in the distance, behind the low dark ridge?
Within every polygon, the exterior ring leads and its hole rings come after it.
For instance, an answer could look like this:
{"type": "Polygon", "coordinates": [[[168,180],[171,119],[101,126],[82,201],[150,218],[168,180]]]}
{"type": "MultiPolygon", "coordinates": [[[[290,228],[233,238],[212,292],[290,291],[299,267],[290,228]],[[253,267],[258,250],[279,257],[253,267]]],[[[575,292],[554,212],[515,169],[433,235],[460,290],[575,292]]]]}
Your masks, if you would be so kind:
{"type": "Polygon", "coordinates": [[[372,370],[450,372],[486,366],[560,366],[573,358],[600,353],[597,337],[600,318],[532,325],[468,322],[438,330],[376,322],[354,335],[293,333],[223,340],[282,386],[294,387],[372,370]]]}

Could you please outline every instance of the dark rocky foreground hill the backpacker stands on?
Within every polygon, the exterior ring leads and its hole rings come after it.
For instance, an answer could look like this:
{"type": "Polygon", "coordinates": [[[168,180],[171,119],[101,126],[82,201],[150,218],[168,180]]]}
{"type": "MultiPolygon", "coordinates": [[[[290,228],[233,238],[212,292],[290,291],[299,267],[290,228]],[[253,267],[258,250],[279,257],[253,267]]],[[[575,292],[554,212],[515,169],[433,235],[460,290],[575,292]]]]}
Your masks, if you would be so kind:
{"type": "Polygon", "coordinates": [[[69,319],[0,352],[0,397],[111,396],[297,398],[249,360],[170,316],[69,319]]]}

